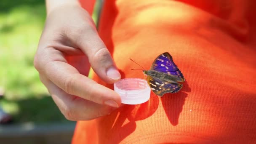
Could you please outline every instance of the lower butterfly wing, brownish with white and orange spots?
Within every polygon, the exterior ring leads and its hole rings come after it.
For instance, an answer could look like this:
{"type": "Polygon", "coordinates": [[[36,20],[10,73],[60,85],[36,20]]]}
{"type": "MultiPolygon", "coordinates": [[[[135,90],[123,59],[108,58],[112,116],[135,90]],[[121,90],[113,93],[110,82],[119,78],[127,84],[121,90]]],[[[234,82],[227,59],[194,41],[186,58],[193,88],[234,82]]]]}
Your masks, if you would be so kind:
{"type": "Polygon", "coordinates": [[[180,83],[170,83],[152,76],[147,76],[147,82],[157,96],[163,96],[165,93],[176,93],[182,88],[180,83]]]}

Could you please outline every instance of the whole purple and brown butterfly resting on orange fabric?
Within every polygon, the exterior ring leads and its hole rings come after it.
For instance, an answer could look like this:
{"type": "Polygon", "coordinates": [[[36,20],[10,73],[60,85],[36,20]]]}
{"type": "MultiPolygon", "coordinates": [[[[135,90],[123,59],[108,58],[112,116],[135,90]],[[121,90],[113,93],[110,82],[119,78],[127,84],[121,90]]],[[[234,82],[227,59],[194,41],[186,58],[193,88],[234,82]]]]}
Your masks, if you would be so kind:
{"type": "Polygon", "coordinates": [[[158,96],[178,92],[182,88],[182,84],[178,82],[185,81],[184,76],[168,52],[157,56],[149,70],[142,70],[144,75],[147,76],[147,83],[151,90],[158,96]]]}

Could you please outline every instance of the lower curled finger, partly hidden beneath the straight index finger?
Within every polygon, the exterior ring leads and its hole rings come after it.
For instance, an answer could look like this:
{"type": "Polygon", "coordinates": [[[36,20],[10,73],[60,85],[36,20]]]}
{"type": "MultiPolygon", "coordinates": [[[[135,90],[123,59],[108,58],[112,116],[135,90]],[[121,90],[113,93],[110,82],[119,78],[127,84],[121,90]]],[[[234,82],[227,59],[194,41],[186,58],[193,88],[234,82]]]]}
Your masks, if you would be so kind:
{"type": "Polygon", "coordinates": [[[115,109],[106,105],[96,104],[77,96],[69,95],[45,78],[41,78],[41,81],[48,88],[53,101],[59,107],[61,113],[68,120],[92,120],[103,115],[108,115],[115,109]]]}

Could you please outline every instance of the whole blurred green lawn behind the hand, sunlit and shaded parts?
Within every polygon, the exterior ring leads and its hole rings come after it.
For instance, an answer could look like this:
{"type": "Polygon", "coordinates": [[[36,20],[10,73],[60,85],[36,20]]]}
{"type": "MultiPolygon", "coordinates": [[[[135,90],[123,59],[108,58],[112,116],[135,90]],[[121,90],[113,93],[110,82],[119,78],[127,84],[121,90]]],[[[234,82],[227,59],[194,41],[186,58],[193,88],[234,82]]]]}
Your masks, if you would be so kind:
{"type": "MultiPolygon", "coordinates": [[[[97,19],[97,9],[93,19],[97,19]]],[[[33,67],[46,18],[44,0],[0,0],[0,107],[14,123],[65,123],[33,67]]]]}

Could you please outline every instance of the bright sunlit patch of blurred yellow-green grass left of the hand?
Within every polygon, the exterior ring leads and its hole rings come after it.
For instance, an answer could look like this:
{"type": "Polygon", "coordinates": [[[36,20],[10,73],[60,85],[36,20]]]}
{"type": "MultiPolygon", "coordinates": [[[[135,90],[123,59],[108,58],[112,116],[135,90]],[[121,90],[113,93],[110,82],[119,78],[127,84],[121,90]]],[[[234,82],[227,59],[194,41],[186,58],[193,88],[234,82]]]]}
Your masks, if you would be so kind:
{"type": "MultiPolygon", "coordinates": [[[[1,4],[5,1],[6,11],[0,13],[0,85],[5,89],[6,99],[45,94],[47,91],[33,67],[45,21],[44,0],[20,0],[17,5],[15,1],[1,0],[1,4]]],[[[2,10],[3,6],[0,7],[2,10]]]]}

